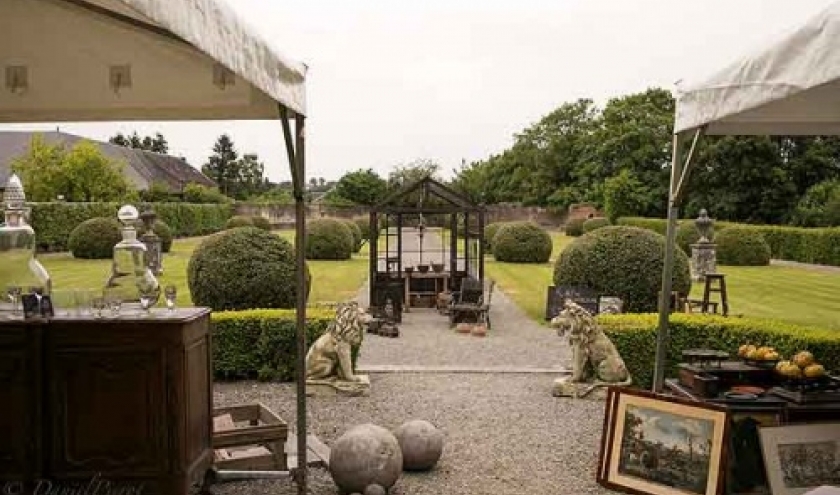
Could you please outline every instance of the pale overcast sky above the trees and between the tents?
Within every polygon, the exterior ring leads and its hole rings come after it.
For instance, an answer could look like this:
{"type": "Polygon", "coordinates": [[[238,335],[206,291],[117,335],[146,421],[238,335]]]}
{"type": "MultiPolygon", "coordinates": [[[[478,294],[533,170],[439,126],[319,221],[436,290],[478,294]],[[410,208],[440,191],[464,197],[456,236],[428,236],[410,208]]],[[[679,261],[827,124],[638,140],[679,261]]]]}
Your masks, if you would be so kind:
{"type": "MultiPolygon", "coordinates": [[[[563,102],[702,78],[831,0],[228,0],[309,66],[307,166],[337,179],[417,158],[449,173],[509,147],[563,102]]],[[[3,126],[9,128],[50,128],[3,126]]],[[[278,122],[61,124],[107,139],[161,132],[196,167],[227,132],[289,178],[278,122]]]]}

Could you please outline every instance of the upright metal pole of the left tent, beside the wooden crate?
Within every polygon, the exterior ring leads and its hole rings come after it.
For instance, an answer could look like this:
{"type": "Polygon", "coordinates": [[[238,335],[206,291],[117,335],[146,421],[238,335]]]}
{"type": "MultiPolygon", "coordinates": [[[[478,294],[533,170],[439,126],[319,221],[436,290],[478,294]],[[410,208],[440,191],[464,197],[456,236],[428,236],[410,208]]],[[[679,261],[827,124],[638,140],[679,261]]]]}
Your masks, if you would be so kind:
{"type": "Polygon", "coordinates": [[[306,495],[308,467],[306,461],[306,302],[309,287],[306,280],[306,203],[304,186],[306,182],[305,161],[305,117],[295,114],[295,269],[297,271],[297,455],[295,478],[298,493],[306,495]]]}

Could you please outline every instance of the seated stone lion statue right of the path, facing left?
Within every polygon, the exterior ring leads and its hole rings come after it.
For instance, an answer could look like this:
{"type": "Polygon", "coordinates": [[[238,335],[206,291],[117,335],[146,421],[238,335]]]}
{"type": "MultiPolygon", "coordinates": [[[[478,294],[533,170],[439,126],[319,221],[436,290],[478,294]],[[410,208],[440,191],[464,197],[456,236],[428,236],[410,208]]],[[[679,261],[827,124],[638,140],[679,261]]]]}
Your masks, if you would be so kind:
{"type": "Polygon", "coordinates": [[[593,390],[609,385],[628,386],[630,372],[615,345],[595,323],[591,314],[567,299],[563,311],[551,320],[557,335],[569,334],[572,347],[572,376],[555,389],[555,395],[585,397],[593,390]],[[580,385],[590,384],[589,387],[580,385]]]}

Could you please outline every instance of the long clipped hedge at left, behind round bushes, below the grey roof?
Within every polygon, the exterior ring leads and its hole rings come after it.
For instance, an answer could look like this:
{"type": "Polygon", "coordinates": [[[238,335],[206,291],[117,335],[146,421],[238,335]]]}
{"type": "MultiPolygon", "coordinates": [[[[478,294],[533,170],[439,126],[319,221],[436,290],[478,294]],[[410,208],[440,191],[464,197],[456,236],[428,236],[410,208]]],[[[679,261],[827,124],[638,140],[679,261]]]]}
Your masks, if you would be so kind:
{"type": "MultiPolygon", "coordinates": [[[[116,218],[120,203],[32,203],[30,223],[35,229],[38,249],[66,251],[70,232],[85,220],[96,217],[116,218]]],[[[147,204],[136,205],[143,211],[147,204]]],[[[166,222],[175,237],[206,235],[223,230],[233,214],[231,205],[154,203],[155,213],[166,222]]]]}

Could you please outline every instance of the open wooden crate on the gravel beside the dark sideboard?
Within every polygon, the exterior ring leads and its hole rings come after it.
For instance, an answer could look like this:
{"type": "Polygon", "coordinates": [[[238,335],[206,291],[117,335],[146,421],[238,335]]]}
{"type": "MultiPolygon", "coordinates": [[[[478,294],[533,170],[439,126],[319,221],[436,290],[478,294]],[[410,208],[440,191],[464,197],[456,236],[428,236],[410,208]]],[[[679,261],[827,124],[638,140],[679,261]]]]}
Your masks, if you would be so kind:
{"type": "Polygon", "coordinates": [[[286,471],[289,426],[261,403],[213,410],[218,469],[286,471]]]}

